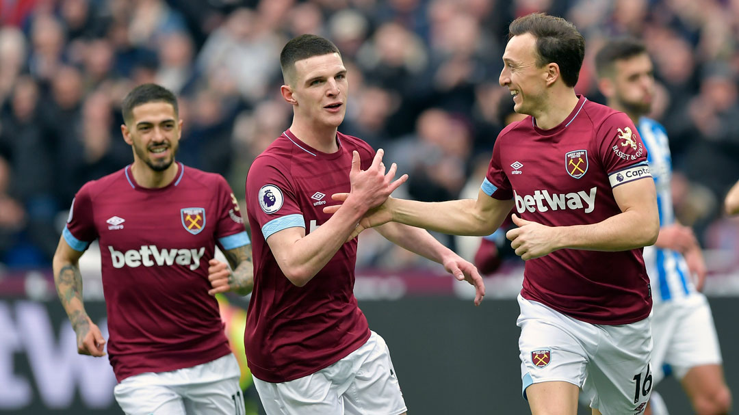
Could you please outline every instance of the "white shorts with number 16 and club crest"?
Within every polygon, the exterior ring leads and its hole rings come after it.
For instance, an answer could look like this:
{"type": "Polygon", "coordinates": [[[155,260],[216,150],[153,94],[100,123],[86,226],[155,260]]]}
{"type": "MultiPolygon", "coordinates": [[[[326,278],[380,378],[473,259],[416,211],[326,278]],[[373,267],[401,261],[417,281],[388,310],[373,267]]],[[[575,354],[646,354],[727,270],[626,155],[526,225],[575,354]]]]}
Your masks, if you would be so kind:
{"type": "Polygon", "coordinates": [[[652,391],[650,318],[607,326],[585,323],[518,296],[523,396],[533,383],[582,388],[603,415],[642,414],[652,391]]]}

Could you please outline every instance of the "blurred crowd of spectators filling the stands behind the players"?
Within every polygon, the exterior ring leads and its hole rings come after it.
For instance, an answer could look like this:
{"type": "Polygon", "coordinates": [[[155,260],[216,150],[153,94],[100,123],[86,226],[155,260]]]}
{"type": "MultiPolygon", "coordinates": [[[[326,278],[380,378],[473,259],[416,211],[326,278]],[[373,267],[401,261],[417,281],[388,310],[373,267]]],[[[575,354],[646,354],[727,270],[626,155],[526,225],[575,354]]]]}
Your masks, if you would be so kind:
{"type": "MultiPolygon", "coordinates": [[[[243,202],[251,160],[290,125],[279,52],[306,32],[341,49],[350,100],[340,130],[386,149],[410,175],[403,196],[475,197],[515,116],[498,85],[508,23],[534,11],[585,35],[576,91],[600,103],[599,45],[646,42],[678,218],[705,247],[739,257],[739,225],[720,210],[739,179],[739,0],[3,0],[0,263],[48,266],[75,191],[131,162],[120,101],[139,83],[177,93],[177,159],[222,174],[243,202]]],[[[479,244],[440,238],[468,258],[479,244]]],[[[416,261],[365,239],[360,266],[416,261]]]]}

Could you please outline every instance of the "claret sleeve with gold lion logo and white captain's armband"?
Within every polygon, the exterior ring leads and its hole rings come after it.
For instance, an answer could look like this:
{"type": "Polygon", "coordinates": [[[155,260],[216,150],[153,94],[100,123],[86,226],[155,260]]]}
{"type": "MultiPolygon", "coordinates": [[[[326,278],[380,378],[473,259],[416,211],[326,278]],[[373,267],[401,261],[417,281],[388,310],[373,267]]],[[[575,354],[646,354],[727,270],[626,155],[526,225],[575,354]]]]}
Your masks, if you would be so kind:
{"type": "Polygon", "coordinates": [[[647,148],[626,114],[619,112],[607,117],[597,132],[596,143],[611,188],[652,177],[647,148]]]}

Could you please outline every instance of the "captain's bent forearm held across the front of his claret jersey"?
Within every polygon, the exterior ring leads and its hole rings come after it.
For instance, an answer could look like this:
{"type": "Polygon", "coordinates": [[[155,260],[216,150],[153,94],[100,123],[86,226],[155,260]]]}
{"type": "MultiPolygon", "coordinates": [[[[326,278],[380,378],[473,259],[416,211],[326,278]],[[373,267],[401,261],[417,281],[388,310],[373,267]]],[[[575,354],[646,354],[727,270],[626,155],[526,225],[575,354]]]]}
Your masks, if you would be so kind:
{"type": "Polygon", "coordinates": [[[647,213],[627,210],[595,224],[557,229],[558,249],[624,251],[654,244],[659,232],[659,221],[647,213]]]}

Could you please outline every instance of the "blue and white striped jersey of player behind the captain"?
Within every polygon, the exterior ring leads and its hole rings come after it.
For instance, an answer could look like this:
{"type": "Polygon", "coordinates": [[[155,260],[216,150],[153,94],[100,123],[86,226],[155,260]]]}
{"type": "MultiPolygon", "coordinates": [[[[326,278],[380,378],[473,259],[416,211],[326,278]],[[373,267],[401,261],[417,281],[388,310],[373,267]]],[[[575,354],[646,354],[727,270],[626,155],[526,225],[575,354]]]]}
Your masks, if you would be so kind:
{"type": "MultiPolygon", "coordinates": [[[[637,129],[647,147],[647,162],[657,188],[659,225],[675,222],[672,209],[672,159],[667,132],[664,127],[647,117],[639,119],[637,129]]],[[[697,293],[695,285],[681,253],[655,246],[644,247],[644,264],[652,285],[654,303],[689,298],[697,293]]]]}

